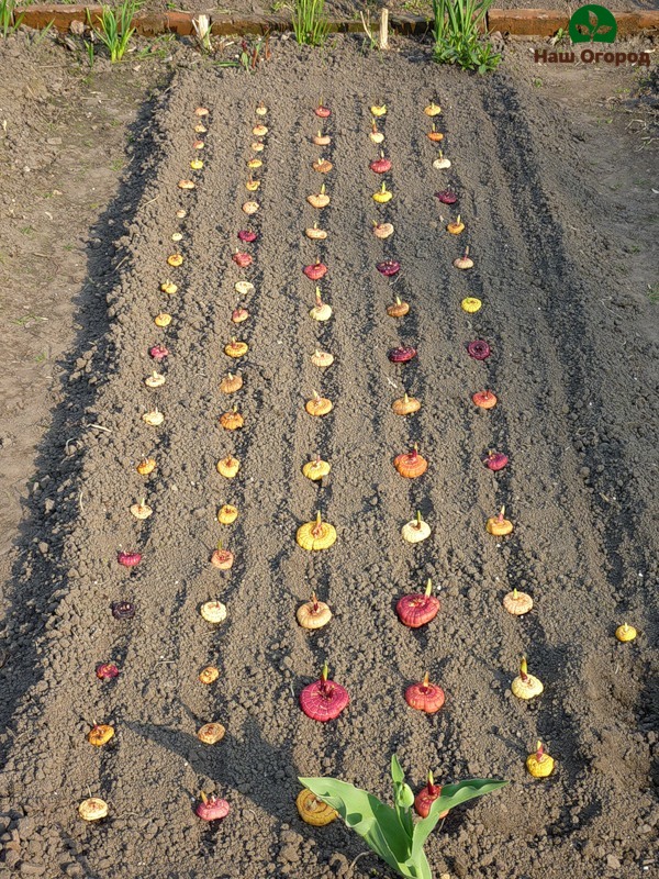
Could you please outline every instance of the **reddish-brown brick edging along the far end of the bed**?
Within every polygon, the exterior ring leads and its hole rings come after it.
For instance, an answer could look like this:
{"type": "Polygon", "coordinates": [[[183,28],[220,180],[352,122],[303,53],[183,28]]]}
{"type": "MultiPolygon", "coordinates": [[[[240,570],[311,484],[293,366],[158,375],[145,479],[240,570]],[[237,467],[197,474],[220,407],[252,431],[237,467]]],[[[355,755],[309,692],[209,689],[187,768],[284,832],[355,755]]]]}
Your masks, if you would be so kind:
{"type": "MultiPolygon", "coordinates": [[[[101,14],[99,5],[30,5],[16,7],[14,21],[22,16],[29,27],[42,30],[53,22],[60,32],[70,30],[71,22],[87,22],[87,13],[92,19],[101,14]]],[[[133,19],[133,26],[142,36],[157,36],[175,33],[190,36],[194,33],[192,12],[141,12],[133,19]]],[[[206,13],[211,19],[213,34],[265,34],[267,32],[292,31],[291,19],[287,15],[217,15],[206,13]]],[[[630,36],[641,31],[659,33],[659,11],[616,12],[618,34],[630,36]]],[[[491,9],[488,13],[488,30],[509,33],[514,36],[552,36],[560,27],[567,30],[567,13],[551,9],[491,9]]],[[[433,20],[422,15],[392,13],[389,25],[398,34],[421,35],[431,30],[433,20]]],[[[332,19],[330,31],[334,33],[359,33],[361,22],[347,19],[332,19]]]]}

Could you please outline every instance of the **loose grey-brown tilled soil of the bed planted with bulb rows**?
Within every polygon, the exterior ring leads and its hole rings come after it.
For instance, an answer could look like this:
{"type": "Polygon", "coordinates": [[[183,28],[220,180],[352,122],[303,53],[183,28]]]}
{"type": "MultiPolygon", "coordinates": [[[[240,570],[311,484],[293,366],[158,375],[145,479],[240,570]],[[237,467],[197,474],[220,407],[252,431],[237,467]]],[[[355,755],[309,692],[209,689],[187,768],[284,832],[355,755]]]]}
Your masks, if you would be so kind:
{"type": "Polygon", "coordinates": [[[16,564],[0,672],[12,719],[0,809],[4,827],[20,820],[7,849],[18,854],[5,853],[0,875],[20,865],[47,877],[384,876],[371,856],[350,866],[365,846],[340,822],[302,824],[294,798],[300,775],[389,797],[394,750],[415,788],[428,768],[442,781],[511,781],[433,834],[436,876],[638,877],[652,864],[651,305],[593,231],[601,204],[559,113],[538,103],[530,113],[505,73],[481,80],[418,60],[382,64],[346,41],[320,56],[289,44],[249,80],[179,71],[135,145],[127,186],[138,205],[105,281],[110,327],[68,399],[87,424],[83,442],[43,488],[47,552],[16,564]],[[333,109],[323,155],[334,163],[322,179],[310,141],[321,94],[333,109]],[[384,97],[394,198],[380,207],[367,135],[369,104],[384,97]],[[431,98],[444,109],[448,170],[432,166],[431,98]],[[252,196],[245,163],[259,100],[269,133],[252,196]],[[210,109],[209,131],[204,167],[192,173],[198,104],[210,109]],[[181,191],[191,176],[197,188],[181,191]],[[315,211],[305,197],[323,179],[332,201],[315,211]],[[433,194],[448,183],[456,209],[433,194]],[[253,197],[260,210],[248,220],[241,205],[253,197]],[[455,238],[444,226],[458,210],[467,229],[455,238]],[[378,219],[395,226],[384,242],[371,233],[378,219]],[[314,221],[328,232],[321,244],[303,235],[314,221]],[[239,269],[231,256],[246,225],[259,237],[242,248],[254,264],[239,269]],[[451,264],[463,244],[474,267],[460,272],[451,264]],[[176,249],[183,265],[169,268],[176,249]],[[316,258],[328,266],[321,287],[334,312],[324,324],[309,316],[314,285],[301,271],[316,258]],[[383,258],[401,262],[395,279],[376,270],[383,258]],[[171,297],[159,292],[167,276],[179,288],[171,297]],[[239,279],[255,285],[246,297],[234,290],[239,279]],[[400,321],[386,312],[395,296],[411,303],[400,321]],[[467,296],[483,301],[478,313],[460,309],[467,296]],[[236,327],[238,302],[250,318],[236,327]],[[160,310],[172,315],[166,331],[154,324],[160,310]],[[219,385],[233,335],[249,351],[230,399],[219,385]],[[474,338],[490,343],[488,360],[468,356],[474,338]],[[149,390],[155,343],[169,349],[167,381],[149,390]],[[417,358],[391,364],[399,344],[417,358]],[[336,358],[322,374],[310,360],[316,346],[336,358]],[[489,412],[470,400],[483,388],[499,397],[489,412]],[[322,419],[304,411],[313,390],[334,402],[322,419]],[[403,390],[423,403],[406,419],[391,411],[403,390]],[[230,433],[219,418],[234,402],[245,426],[230,433]],[[159,427],[142,421],[154,405],[159,427]],[[413,443],[429,467],[403,480],[392,459],[413,443]],[[482,464],[490,448],[510,455],[496,475],[482,464]],[[242,461],[231,481],[215,469],[228,453],[242,461]],[[332,463],[322,486],[301,475],[316,453],[332,463]],[[135,470],[144,454],[158,465],[148,478],[135,470]],[[154,513],[138,522],[129,508],[142,497],[154,513]],[[225,501],[239,510],[232,526],[215,519],[225,501]],[[515,530],[495,538],[484,523],[503,504],[515,530]],[[294,535],[317,510],[338,539],[309,554],[294,535]],[[433,533],[412,546],[400,530],[415,510],[433,533]],[[219,539],[236,555],[228,572],[210,564],[219,539]],[[143,554],[132,571],[118,565],[120,548],[143,554]],[[442,611],[412,632],[393,608],[427,577],[442,611]],[[525,617],[502,608],[513,587],[534,597],[525,617]],[[314,589],[334,619],[310,635],[294,611],[314,589]],[[219,626],[199,613],[210,598],[228,610],[219,626]],[[110,613],[122,599],[135,602],[132,621],[110,613]],[[613,636],[624,620],[639,632],[632,644],[613,636]],[[532,703],[510,691],[522,654],[545,683],[532,703]],[[298,705],[324,659],[351,698],[327,725],[298,705]],[[120,676],[97,680],[100,661],[120,676]],[[220,678],[204,687],[197,676],[209,663],[220,678]],[[425,670],[447,694],[433,716],[403,700],[425,670]],[[209,721],[226,726],[214,746],[196,737],[209,721]],[[116,728],[103,748],[86,741],[94,722],[116,728]],[[537,738],[557,760],[546,781],[524,768],[537,738]],[[194,816],[200,790],[231,802],[219,826],[194,816]],[[90,794],[110,804],[97,825],[77,816],[90,794]]]}

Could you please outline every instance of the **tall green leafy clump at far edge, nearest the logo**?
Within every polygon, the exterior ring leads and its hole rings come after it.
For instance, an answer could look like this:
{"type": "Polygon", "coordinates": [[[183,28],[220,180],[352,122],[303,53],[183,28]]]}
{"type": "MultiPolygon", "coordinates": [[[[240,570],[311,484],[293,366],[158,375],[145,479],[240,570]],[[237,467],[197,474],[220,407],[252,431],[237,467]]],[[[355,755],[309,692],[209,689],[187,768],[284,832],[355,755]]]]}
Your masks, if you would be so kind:
{"type": "Polygon", "coordinates": [[[433,0],[433,59],[479,74],[494,70],[501,55],[479,33],[491,3],[492,0],[433,0]]]}

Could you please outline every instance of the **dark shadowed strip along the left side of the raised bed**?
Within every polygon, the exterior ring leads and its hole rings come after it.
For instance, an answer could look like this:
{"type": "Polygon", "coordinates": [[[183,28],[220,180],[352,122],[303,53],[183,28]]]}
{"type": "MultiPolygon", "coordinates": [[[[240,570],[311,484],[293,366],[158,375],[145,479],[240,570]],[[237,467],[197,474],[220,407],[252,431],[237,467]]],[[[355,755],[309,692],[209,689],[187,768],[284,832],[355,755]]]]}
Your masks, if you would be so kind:
{"type": "MultiPolygon", "coordinates": [[[[62,556],[64,537],[80,513],[78,491],[71,494],[70,489],[77,485],[80,461],[90,441],[89,424],[93,416],[87,415],[99,387],[93,381],[71,382],[70,377],[78,368],[78,359],[86,359],[90,349],[93,349],[98,364],[109,367],[103,379],[111,377],[107,297],[120,280],[120,269],[125,272],[130,268],[126,255],[121,248],[115,249],[114,242],[124,232],[123,219],[134,215],[144,194],[148,178],[143,175],[142,166],[157,148],[153,121],[168,85],[168,80],[160,85],[158,92],[142,104],[137,118],[127,126],[126,144],[133,142],[135,145],[129,171],[121,180],[115,198],[89,230],[90,242],[100,240],[102,244],[97,248],[88,244],[85,251],[87,276],[75,300],[75,320],[80,330],[72,349],[57,364],[62,370],[60,391],[66,391],[66,396],[57,405],[51,429],[38,446],[34,478],[41,480],[41,490],[24,502],[29,515],[21,523],[16,537],[19,556],[12,569],[8,596],[7,631],[0,639],[0,649],[8,654],[0,670],[0,727],[9,733],[0,743],[0,763],[4,761],[13,745],[10,724],[21,699],[42,677],[36,648],[47,620],[66,593],[69,577],[66,559],[62,556]],[[47,479],[44,477],[46,474],[47,479]],[[69,490],[58,493],[57,488],[63,485],[69,490]],[[46,554],[38,549],[40,542],[48,544],[46,554]]],[[[90,377],[93,375],[90,372],[90,377]]]]}

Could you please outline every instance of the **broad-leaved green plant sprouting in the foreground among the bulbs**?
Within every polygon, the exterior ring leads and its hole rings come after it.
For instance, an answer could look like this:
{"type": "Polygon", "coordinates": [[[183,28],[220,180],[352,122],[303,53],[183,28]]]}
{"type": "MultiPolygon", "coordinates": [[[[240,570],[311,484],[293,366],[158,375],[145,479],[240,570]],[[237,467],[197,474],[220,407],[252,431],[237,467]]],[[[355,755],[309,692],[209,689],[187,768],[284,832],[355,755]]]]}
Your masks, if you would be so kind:
{"type": "Polygon", "coordinates": [[[415,822],[412,811],[414,793],[405,785],[395,754],[391,758],[391,779],[393,809],[372,793],[336,778],[300,778],[299,781],[319,800],[336,809],[346,825],[403,879],[433,879],[423,847],[442,812],[507,785],[507,781],[483,778],[446,785],[431,806],[428,816],[415,822]]]}

